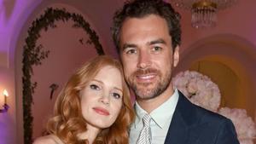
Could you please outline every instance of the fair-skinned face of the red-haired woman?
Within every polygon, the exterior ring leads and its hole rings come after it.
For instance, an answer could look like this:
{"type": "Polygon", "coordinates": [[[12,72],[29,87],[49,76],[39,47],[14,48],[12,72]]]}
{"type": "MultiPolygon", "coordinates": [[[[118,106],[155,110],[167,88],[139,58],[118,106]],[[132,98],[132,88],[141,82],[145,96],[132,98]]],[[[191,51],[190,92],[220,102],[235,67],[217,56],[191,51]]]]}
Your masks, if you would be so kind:
{"type": "Polygon", "coordinates": [[[104,66],[81,91],[81,108],[88,129],[110,127],[122,107],[122,75],[113,66],[104,66]]]}

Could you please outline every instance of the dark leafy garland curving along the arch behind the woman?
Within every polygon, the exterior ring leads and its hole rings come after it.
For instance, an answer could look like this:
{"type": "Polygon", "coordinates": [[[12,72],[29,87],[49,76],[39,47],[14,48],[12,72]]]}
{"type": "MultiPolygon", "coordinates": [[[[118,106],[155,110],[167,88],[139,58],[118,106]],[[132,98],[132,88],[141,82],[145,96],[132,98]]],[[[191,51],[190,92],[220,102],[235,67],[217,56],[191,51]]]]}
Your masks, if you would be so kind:
{"type": "Polygon", "coordinates": [[[46,59],[49,51],[44,51],[43,46],[36,46],[37,40],[40,37],[40,31],[44,29],[47,31],[49,27],[55,28],[55,21],[67,20],[74,21],[74,27],[83,28],[90,36],[90,41],[93,43],[98,55],[104,55],[102,44],[99,42],[99,37],[96,32],[90,28],[90,24],[84,20],[81,14],[69,13],[66,9],[52,9],[48,8],[44,14],[40,15],[39,19],[32,21],[32,26],[29,27],[28,37],[26,37],[26,44],[23,47],[23,66],[22,66],[22,101],[23,101],[23,127],[24,127],[24,143],[32,144],[32,94],[37,87],[37,83],[32,83],[32,66],[41,65],[41,61],[46,59]]]}

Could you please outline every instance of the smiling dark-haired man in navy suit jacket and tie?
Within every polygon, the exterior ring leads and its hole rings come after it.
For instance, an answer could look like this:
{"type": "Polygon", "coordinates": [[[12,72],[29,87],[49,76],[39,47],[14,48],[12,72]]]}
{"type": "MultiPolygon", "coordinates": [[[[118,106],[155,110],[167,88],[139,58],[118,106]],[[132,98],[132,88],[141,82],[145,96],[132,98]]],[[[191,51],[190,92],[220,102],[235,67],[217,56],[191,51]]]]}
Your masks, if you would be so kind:
{"type": "Polygon", "coordinates": [[[113,41],[136,95],[130,143],[238,144],[228,118],[189,102],[173,88],[180,15],[161,0],[125,3],[113,18],[113,41]]]}

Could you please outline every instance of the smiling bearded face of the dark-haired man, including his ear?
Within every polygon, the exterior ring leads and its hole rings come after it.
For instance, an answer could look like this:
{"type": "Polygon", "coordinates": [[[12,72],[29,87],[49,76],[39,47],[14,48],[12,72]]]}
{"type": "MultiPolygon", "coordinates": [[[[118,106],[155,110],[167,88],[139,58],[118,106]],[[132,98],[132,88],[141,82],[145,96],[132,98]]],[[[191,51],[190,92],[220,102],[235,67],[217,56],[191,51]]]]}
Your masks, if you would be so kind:
{"type": "Polygon", "coordinates": [[[172,52],[165,19],[155,14],[127,18],[120,31],[119,47],[125,79],[137,100],[172,91],[172,68],[177,66],[179,55],[178,47],[172,52]]]}

